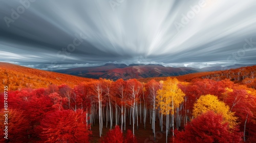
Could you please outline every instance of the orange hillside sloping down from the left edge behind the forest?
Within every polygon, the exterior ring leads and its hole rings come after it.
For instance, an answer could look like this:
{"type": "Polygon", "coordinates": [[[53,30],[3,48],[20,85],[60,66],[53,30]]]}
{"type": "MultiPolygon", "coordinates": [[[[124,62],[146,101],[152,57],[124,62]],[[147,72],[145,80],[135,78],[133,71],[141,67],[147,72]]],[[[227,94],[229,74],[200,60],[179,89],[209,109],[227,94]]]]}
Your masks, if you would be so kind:
{"type": "Polygon", "coordinates": [[[9,86],[9,89],[41,88],[50,84],[67,84],[71,87],[92,79],[54,73],[15,64],[0,62],[0,86],[9,86]]]}

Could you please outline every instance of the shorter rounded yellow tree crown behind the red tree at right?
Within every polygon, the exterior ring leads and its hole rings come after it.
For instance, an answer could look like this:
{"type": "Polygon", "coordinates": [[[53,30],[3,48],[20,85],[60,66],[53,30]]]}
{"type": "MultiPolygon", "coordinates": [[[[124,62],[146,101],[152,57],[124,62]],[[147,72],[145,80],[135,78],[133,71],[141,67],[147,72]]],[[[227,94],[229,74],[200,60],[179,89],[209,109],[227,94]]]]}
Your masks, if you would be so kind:
{"type": "Polygon", "coordinates": [[[234,112],[230,112],[230,109],[224,102],[220,101],[218,97],[207,94],[201,96],[194,105],[193,116],[205,113],[207,111],[214,111],[215,113],[222,114],[224,122],[229,123],[230,128],[234,128],[238,123],[237,117],[234,116],[234,112]]]}

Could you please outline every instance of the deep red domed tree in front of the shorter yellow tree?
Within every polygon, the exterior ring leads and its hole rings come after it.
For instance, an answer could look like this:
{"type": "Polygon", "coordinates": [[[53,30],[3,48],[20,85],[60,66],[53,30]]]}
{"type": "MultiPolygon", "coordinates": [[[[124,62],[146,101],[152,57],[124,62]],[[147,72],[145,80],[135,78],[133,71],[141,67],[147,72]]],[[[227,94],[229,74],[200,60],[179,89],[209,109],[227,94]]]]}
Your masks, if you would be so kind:
{"type": "Polygon", "coordinates": [[[208,111],[185,126],[185,131],[175,130],[175,142],[241,142],[242,134],[228,128],[222,115],[208,111]]]}

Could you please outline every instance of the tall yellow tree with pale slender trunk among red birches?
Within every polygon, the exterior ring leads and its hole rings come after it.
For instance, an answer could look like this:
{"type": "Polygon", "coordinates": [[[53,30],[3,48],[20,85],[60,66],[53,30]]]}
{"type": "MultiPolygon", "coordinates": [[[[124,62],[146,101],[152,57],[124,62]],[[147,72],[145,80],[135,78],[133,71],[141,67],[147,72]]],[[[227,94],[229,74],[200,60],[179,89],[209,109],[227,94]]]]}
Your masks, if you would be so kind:
{"type": "Polygon", "coordinates": [[[179,81],[174,78],[167,78],[166,81],[161,81],[162,88],[157,91],[158,107],[160,112],[166,115],[166,142],[168,135],[168,119],[169,113],[172,113],[172,127],[174,136],[174,113],[177,107],[184,101],[185,94],[178,87],[179,81]]]}

